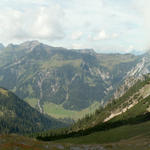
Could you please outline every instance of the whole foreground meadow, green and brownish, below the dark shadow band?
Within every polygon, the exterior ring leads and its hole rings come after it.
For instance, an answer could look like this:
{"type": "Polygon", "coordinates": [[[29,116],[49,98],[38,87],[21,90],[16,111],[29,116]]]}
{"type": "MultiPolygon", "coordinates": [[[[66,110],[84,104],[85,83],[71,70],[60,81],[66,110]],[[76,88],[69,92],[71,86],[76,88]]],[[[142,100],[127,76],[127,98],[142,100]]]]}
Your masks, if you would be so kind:
{"type": "Polygon", "coordinates": [[[0,141],[1,150],[85,150],[85,147],[88,150],[99,150],[100,147],[104,147],[104,150],[149,150],[150,121],[55,142],[42,142],[18,135],[1,135],[0,141]]]}

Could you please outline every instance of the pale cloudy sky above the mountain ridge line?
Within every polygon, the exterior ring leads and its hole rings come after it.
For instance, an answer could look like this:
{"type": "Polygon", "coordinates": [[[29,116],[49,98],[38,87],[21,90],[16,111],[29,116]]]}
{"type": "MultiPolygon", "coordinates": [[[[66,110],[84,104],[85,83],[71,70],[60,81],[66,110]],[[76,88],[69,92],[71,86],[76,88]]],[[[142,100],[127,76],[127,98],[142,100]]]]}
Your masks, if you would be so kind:
{"type": "Polygon", "coordinates": [[[1,0],[0,42],[100,53],[150,48],[150,0],[1,0]]]}

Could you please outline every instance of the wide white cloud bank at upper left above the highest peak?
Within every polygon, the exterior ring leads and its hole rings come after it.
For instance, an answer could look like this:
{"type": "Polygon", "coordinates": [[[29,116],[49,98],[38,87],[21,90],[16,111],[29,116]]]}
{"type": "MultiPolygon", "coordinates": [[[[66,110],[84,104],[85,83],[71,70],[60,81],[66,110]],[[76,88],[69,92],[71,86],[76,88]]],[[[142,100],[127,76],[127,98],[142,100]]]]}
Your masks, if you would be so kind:
{"type": "Polygon", "coordinates": [[[4,8],[0,10],[1,41],[57,40],[64,37],[64,12],[58,6],[40,6],[24,11],[4,8]]]}

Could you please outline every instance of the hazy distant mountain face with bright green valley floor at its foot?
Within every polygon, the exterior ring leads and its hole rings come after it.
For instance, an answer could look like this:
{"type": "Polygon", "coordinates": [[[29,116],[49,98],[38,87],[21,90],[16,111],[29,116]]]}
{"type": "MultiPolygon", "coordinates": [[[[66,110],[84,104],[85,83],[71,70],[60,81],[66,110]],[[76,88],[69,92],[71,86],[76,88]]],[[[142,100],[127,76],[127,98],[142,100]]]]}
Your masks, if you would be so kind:
{"type": "Polygon", "coordinates": [[[0,85],[42,113],[77,120],[103,105],[140,61],[38,41],[10,44],[0,51],[0,85]]]}

